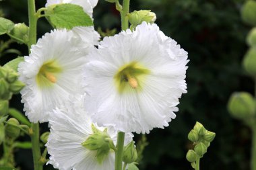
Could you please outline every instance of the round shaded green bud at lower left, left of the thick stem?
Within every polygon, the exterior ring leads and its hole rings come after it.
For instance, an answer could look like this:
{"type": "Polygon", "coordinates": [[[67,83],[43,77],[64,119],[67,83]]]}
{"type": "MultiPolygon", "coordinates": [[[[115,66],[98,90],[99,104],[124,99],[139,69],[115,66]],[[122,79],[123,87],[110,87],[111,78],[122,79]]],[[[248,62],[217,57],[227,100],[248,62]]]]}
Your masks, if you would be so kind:
{"type": "Polygon", "coordinates": [[[10,118],[7,121],[7,123],[8,124],[5,124],[5,134],[6,134],[6,136],[8,136],[9,138],[12,138],[12,139],[18,138],[18,136],[20,136],[20,128],[15,127],[15,126],[20,125],[18,120],[16,120],[15,118],[10,118]],[[14,126],[12,126],[12,124],[14,126]]]}

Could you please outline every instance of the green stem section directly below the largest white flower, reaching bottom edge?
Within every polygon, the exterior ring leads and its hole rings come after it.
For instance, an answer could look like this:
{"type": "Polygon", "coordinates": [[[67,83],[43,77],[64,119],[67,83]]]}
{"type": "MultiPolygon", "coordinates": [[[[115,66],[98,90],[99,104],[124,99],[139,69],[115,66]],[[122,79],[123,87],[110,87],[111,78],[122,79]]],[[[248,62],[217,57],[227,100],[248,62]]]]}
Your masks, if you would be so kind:
{"type": "Polygon", "coordinates": [[[124,143],[125,143],[125,133],[118,132],[118,134],[117,134],[117,151],[115,152],[115,170],[122,170],[124,143]]]}

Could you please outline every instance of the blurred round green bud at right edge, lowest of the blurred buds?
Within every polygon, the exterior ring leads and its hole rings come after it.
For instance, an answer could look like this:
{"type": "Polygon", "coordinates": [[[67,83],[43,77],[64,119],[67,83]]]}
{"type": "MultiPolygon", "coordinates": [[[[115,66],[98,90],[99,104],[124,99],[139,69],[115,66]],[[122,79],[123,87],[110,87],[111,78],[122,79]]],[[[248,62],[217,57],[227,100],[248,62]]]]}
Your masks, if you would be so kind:
{"type": "Polygon", "coordinates": [[[255,115],[255,100],[250,93],[232,93],[228,101],[228,111],[231,116],[238,119],[247,119],[255,115]]]}

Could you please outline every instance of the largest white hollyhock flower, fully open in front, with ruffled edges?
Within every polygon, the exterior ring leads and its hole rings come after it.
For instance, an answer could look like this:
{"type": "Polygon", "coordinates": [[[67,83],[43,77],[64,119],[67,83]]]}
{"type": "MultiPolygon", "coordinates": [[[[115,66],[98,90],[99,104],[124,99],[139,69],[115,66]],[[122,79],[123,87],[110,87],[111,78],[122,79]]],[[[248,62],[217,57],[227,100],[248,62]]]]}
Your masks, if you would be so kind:
{"type": "Polygon", "coordinates": [[[187,92],[187,62],[187,52],[156,24],[104,38],[84,71],[92,120],[123,132],[168,126],[187,92]]]}

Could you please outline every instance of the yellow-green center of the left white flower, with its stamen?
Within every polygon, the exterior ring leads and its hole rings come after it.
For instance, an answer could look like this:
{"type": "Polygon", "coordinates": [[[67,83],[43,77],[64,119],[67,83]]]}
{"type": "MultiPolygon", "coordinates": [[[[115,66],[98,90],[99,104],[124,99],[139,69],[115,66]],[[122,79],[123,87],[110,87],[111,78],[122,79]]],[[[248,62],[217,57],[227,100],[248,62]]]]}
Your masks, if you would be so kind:
{"type": "Polygon", "coordinates": [[[55,60],[44,62],[36,75],[36,82],[39,87],[51,87],[57,82],[57,75],[62,69],[55,60]]]}

